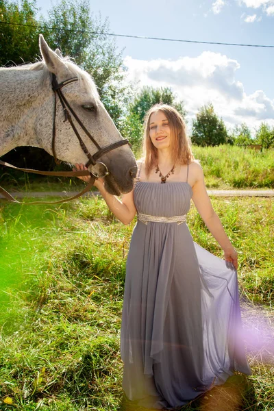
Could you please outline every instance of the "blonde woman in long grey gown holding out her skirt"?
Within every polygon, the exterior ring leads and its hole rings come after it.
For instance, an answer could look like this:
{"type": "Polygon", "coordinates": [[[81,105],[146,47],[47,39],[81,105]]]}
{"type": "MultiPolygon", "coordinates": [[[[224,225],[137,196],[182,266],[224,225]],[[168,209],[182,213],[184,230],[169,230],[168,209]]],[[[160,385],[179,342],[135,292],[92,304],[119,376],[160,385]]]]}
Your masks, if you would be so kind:
{"type": "Polygon", "coordinates": [[[160,104],[147,113],[144,157],[132,192],[120,201],[101,179],[95,184],[122,223],[138,217],[121,327],[127,399],[144,408],[173,409],[223,384],[234,371],[249,374],[237,253],[212,208],[177,110],[160,104]],[[193,242],[186,224],[190,199],[224,260],[193,242]]]}

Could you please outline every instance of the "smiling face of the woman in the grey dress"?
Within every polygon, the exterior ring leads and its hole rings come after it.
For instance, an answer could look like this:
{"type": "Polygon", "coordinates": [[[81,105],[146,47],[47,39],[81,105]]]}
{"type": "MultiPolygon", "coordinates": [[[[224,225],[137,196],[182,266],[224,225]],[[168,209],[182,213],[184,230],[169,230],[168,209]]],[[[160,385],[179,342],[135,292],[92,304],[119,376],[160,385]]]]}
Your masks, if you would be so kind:
{"type": "Polygon", "coordinates": [[[153,112],[149,119],[149,137],[156,149],[171,147],[171,128],[164,112],[153,112]]]}

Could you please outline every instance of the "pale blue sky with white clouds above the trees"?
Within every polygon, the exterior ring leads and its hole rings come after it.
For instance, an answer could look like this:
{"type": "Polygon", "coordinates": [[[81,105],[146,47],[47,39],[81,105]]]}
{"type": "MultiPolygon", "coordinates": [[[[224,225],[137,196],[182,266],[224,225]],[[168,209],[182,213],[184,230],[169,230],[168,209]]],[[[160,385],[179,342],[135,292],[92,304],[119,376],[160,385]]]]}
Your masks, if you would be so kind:
{"type": "MultiPolygon", "coordinates": [[[[55,1],[52,2],[55,4],[55,1]]],[[[38,0],[43,14],[51,1],[38,0]]],[[[90,0],[116,34],[274,45],[274,0],[90,0]]],[[[128,77],[170,86],[190,118],[212,102],[228,127],[274,125],[274,49],[116,38],[128,77]]]]}

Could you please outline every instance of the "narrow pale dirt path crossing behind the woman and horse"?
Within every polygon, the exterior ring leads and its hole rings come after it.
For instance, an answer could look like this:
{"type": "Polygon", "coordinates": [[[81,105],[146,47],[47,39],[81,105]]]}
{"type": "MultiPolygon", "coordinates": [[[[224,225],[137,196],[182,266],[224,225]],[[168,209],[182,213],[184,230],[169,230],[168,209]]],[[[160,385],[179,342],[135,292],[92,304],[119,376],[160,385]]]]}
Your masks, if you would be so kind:
{"type": "MultiPolygon", "coordinates": [[[[44,191],[44,192],[10,192],[13,197],[22,199],[24,197],[73,197],[77,191],[44,191]]],[[[99,195],[98,191],[87,192],[84,197],[99,195]]],[[[274,197],[274,190],[208,190],[208,195],[216,197],[274,197]]],[[[0,195],[0,199],[3,198],[0,195]]]]}

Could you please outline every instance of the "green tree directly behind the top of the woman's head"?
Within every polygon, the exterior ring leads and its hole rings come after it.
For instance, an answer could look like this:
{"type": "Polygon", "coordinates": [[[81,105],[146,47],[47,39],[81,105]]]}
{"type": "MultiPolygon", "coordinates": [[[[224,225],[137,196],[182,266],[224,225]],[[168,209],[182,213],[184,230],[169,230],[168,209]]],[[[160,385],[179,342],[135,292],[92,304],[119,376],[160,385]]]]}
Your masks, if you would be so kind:
{"type": "Polygon", "coordinates": [[[142,141],[145,114],[149,108],[157,103],[173,105],[183,118],[186,116],[183,101],[176,101],[176,95],[173,94],[171,88],[143,87],[129,104],[128,112],[121,124],[123,136],[129,139],[136,151],[140,149],[142,141]]]}

